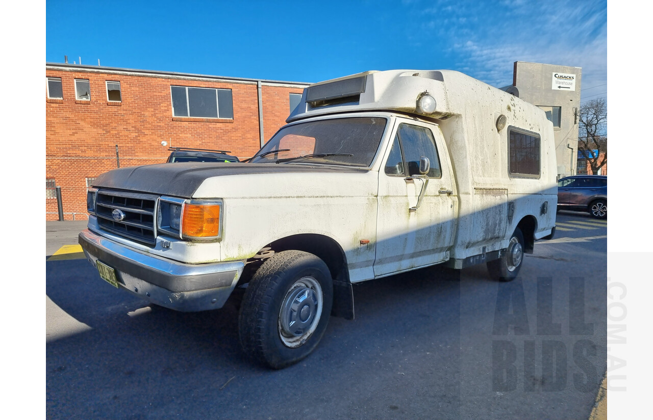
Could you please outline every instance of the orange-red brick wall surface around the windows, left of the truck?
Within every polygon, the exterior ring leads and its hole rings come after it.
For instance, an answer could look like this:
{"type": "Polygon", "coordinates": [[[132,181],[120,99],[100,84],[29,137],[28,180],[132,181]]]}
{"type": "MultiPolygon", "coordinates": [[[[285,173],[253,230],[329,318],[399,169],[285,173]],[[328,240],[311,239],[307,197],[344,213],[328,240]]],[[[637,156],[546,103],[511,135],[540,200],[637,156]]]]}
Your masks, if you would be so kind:
{"type": "MultiPolygon", "coordinates": [[[[229,150],[241,159],[259,150],[257,85],[131,74],[46,69],[61,77],[63,100],[46,94],[46,178],[61,186],[65,219],[87,219],[86,178],[120,166],[163,163],[168,147],[229,150]],[[74,79],[89,79],[90,101],[76,101],[74,79]],[[119,81],[121,102],[108,102],[106,81],[119,81]],[[231,89],[234,118],[172,117],[170,85],[231,89]],[[162,146],[161,141],[167,145],[162,146]]],[[[276,132],[289,114],[289,93],[302,87],[262,87],[264,135],[276,132]]],[[[46,199],[46,220],[57,220],[56,199],[46,199]]]]}

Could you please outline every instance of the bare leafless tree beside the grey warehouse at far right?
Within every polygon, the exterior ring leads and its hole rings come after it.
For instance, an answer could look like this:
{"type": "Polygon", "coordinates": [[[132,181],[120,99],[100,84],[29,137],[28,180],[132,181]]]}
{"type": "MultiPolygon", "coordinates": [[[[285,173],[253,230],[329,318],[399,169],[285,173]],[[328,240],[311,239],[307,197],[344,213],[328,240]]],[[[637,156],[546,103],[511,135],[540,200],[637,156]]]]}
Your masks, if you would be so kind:
{"type": "Polygon", "coordinates": [[[597,175],[599,169],[608,162],[608,108],[605,98],[592,99],[582,104],[578,117],[578,150],[590,162],[592,173],[597,175]],[[597,151],[596,154],[593,150],[597,151]]]}

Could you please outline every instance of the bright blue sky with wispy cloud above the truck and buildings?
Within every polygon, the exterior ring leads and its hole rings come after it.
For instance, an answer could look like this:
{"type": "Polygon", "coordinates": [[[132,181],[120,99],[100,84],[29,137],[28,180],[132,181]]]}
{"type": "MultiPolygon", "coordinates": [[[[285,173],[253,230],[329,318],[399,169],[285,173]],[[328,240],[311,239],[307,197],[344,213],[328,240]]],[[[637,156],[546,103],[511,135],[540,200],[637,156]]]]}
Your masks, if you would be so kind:
{"type": "Polygon", "coordinates": [[[46,2],[46,61],[316,82],[451,69],[512,83],[514,61],[580,66],[607,92],[607,2],[46,2]]]}

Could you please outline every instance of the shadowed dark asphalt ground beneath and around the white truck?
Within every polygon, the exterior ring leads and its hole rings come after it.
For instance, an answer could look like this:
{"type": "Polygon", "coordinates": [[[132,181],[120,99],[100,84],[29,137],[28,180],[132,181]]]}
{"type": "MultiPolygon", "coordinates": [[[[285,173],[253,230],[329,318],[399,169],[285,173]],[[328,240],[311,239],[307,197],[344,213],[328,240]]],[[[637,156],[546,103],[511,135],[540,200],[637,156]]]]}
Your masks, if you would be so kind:
{"type": "Polygon", "coordinates": [[[356,285],[357,318],[330,318],[310,357],[270,371],[242,356],[234,302],[153,310],[83,259],[86,222],[47,222],[46,417],[586,419],[605,372],[607,227],[558,223],[511,283],[475,266],[356,285]]]}

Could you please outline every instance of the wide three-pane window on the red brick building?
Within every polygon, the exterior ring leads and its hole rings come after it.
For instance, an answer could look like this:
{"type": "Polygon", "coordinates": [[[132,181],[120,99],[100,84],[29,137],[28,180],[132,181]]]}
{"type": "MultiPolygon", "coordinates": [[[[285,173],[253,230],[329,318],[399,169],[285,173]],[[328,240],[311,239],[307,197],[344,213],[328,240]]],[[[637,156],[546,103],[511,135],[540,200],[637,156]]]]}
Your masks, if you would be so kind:
{"type": "Polygon", "coordinates": [[[173,117],[234,118],[231,89],[170,86],[173,117]]]}

